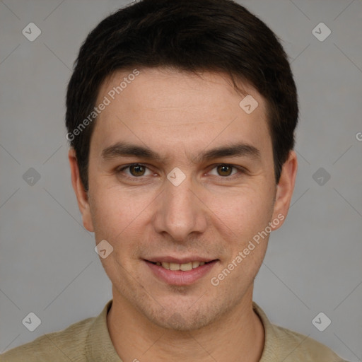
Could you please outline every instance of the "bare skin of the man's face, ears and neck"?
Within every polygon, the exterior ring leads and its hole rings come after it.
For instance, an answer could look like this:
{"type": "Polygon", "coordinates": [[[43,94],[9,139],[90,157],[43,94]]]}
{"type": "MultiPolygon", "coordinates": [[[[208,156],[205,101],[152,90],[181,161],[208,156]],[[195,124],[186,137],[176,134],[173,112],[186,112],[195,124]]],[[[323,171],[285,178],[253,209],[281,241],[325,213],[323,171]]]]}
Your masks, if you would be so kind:
{"type": "MultiPolygon", "coordinates": [[[[259,361],[264,328],[252,310],[252,291],[269,235],[218,286],[211,284],[211,277],[218,276],[269,222],[280,214],[286,217],[296,153],[290,152],[276,185],[266,103],[251,86],[242,84],[243,93],[259,105],[247,115],[239,106],[244,95],[224,74],[139,71],[98,116],[91,138],[88,193],[74,150],[69,151],[83,225],[94,231],[96,243],[107,240],[113,247],[100,259],[112,281],[113,303],[107,315],[112,343],[124,362],[259,361]],[[148,146],[163,160],[103,159],[103,149],[117,141],[148,146]],[[259,157],[193,162],[202,151],[238,142],[257,148],[259,157]],[[145,164],[146,169],[117,173],[130,163],[145,164]],[[244,171],[223,171],[220,164],[244,171]],[[175,167],[186,176],[178,186],[167,178],[175,167]],[[175,286],[158,279],[144,261],[160,255],[200,255],[218,261],[193,284],[175,286]]],[[[119,71],[107,78],[97,104],[129,73],[119,71]]]]}

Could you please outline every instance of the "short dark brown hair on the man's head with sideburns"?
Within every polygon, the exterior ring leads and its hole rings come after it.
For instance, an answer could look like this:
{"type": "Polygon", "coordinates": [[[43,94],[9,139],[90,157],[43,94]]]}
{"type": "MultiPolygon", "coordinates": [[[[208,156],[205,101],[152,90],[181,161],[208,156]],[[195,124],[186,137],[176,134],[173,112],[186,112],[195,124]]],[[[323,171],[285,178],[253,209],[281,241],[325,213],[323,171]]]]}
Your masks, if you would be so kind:
{"type": "MultiPolygon", "coordinates": [[[[141,0],[101,21],[81,46],[66,94],[68,135],[91,114],[103,81],[115,71],[171,67],[221,71],[247,81],[267,100],[274,174],[294,146],[298,97],[278,38],[232,0],[141,0]]],[[[88,156],[95,122],[68,137],[88,190],[88,156]]]]}

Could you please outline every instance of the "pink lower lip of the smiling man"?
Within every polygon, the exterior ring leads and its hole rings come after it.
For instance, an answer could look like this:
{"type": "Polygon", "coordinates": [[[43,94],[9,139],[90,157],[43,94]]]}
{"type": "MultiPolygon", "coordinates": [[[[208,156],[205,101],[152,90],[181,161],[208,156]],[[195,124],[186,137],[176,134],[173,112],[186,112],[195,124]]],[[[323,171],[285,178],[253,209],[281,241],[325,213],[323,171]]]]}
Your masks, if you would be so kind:
{"type": "Polygon", "coordinates": [[[158,279],[165,281],[165,283],[172,284],[174,286],[188,286],[209,273],[216,264],[217,260],[213,260],[212,262],[187,271],[168,270],[151,262],[147,262],[146,260],[145,262],[158,279]]]}

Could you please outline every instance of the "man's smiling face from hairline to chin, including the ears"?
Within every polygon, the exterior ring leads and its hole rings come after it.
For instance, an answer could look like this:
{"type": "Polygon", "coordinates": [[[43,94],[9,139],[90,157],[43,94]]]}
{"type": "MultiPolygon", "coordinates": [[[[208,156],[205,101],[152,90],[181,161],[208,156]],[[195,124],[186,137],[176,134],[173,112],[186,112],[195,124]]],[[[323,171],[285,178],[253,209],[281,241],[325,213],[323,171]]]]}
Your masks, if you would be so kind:
{"type": "Polygon", "coordinates": [[[83,223],[113,247],[101,262],[114,300],[160,327],[204,327],[251,298],[269,230],[286,216],[295,156],[276,185],[266,103],[252,87],[240,95],[216,73],[131,73],[100,89],[96,104],[110,103],[91,138],[88,195],[69,153],[83,223]],[[258,103],[250,114],[245,95],[258,103]]]}

